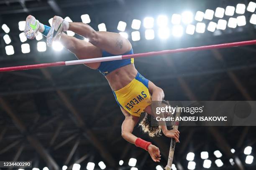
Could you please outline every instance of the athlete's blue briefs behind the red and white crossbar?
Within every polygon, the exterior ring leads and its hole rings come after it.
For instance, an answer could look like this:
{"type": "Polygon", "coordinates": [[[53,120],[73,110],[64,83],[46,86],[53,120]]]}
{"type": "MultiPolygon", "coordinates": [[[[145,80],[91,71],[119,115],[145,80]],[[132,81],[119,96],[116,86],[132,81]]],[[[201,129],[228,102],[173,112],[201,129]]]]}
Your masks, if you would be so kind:
{"type": "MultiPolygon", "coordinates": [[[[133,54],[133,49],[121,55],[127,55],[127,54],[133,54]]],[[[110,57],[110,56],[116,56],[116,55],[102,50],[102,57],[110,57]]],[[[100,67],[98,68],[98,70],[102,75],[107,75],[108,73],[114,71],[115,69],[118,69],[125,65],[129,65],[133,62],[134,62],[133,58],[124,59],[124,60],[104,61],[100,63],[100,67]]]]}

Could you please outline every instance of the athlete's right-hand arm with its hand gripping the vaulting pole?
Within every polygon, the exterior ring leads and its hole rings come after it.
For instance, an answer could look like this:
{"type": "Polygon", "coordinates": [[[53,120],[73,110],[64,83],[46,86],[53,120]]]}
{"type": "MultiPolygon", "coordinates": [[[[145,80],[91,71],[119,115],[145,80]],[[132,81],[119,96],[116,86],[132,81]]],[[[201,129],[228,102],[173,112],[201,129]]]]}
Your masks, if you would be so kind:
{"type": "MultiPolygon", "coordinates": [[[[162,101],[164,99],[164,91],[160,88],[157,87],[153,82],[149,81],[148,82],[148,90],[151,93],[151,100],[152,101],[162,101]]],[[[164,114],[159,114],[155,115],[155,112],[152,112],[152,114],[156,117],[164,117],[164,114]]],[[[178,130],[168,130],[166,127],[165,121],[160,121],[159,122],[161,129],[164,133],[165,136],[169,138],[174,138],[176,142],[179,142],[179,131],[178,130]]]]}

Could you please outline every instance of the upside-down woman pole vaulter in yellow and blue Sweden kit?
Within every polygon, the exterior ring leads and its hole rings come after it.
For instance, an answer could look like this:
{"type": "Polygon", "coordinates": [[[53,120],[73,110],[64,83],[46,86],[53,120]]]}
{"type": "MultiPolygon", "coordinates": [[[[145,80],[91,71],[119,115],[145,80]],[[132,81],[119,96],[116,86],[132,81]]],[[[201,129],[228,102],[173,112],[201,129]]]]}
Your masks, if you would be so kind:
{"type": "MultiPolygon", "coordinates": [[[[59,16],[54,16],[50,28],[29,15],[26,18],[25,35],[28,39],[34,39],[38,31],[47,36],[47,45],[51,46],[53,41],[59,40],[78,59],[133,54],[131,43],[120,34],[95,31],[87,24],[68,23],[59,16]],[[66,35],[64,31],[67,30],[88,38],[89,42],[66,35]]],[[[159,162],[161,160],[159,148],[141,138],[137,138],[132,132],[141,113],[146,112],[145,117],[139,123],[143,132],[154,137],[162,131],[167,137],[174,138],[176,142],[179,142],[178,130],[167,130],[165,123],[159,126],[150,125],[151,115],[153,115],[151,101],[163,100],[164,91],[136,70],[133,58],[88,63],[86,65],[94,70],[99,70],[108,80],[115,99],[125,115],[122,124],[122,137],[128,142],[147,150],[151,158],[155,162],[159,162]]]]}

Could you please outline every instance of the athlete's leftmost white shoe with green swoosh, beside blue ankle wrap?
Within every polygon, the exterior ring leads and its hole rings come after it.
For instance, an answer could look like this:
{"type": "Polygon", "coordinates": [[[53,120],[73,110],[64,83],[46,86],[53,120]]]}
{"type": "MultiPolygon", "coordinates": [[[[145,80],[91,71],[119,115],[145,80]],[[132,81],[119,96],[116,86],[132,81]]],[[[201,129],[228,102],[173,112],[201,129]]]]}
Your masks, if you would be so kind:
{"type": "Polygon", "coordinates": [[[28,39],[33,40],[38,34],[38,30],[39,30],[38,20],[36,20],[36,18],[33,17],[32,15],[28,15],[28,17],[26,18],[26,26],[25,26],[24,34],[28,39]]]}

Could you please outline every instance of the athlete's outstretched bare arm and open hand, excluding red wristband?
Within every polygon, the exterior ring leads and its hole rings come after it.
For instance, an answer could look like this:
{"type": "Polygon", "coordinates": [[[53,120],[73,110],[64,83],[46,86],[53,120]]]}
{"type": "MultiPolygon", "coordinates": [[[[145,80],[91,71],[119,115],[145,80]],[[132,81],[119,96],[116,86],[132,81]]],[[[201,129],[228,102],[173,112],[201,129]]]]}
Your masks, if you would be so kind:
{"type": "MultiPolygon", "coordinates": [[[[125,120],[122,124],[122,137],[130,143],[135,144],[136,140],[138,139],[135,135],[132,134],[134,127],[139,121],[139,117],[130,115],[126,110],[120,107],[123,114],[125,115],[125,120]]],[[[150,154],[152,160],[155,162],[160,162],[161,155],[160,150],[155,145],[148,145],[148,153],[150,154]]]]}

